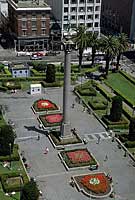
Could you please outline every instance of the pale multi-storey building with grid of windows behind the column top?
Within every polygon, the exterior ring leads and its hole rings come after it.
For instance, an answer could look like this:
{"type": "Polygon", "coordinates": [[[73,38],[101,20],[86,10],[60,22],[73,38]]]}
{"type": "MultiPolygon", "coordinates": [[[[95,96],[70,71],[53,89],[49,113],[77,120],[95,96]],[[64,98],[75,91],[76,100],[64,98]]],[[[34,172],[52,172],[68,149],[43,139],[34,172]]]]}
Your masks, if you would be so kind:
{"type": "Polygon", "coordinates": [[[48,0],[54,17],[61,24],[62,36],[79,25],[85,25],[89,31],[100,34],[101,0],[48,0]]]}

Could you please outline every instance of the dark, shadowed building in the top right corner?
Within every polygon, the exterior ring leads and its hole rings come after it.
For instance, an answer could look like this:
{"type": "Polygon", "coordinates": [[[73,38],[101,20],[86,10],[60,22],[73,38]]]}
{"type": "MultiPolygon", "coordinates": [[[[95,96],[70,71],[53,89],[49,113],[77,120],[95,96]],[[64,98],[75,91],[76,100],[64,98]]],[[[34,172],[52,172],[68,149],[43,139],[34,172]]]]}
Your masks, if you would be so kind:
{"type": "Polygon", "coordinates": [[[128,34],[135,40],[135,0],[102,0],[101,31],[128,34]]]}

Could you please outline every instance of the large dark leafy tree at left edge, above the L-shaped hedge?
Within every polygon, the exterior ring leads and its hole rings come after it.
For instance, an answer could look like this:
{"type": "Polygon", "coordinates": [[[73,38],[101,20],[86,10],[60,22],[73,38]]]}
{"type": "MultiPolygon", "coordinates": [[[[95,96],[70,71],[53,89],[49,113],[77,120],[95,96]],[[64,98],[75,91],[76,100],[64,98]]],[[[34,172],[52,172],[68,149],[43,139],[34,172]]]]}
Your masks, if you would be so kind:
{"type": "Polygon", "coordinates": [[[10,125],[3,125],[0,128],[0,155],[5,156],[12,153],[15,138],[16,134],[10,125]]]}

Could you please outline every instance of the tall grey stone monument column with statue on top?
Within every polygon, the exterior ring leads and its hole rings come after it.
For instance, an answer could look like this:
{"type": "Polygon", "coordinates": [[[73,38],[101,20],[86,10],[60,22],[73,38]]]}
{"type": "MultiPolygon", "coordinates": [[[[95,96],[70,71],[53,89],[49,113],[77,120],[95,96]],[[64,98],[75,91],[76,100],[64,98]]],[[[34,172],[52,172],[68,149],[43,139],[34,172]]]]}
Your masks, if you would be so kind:
{"type": "Polygon", "coordinates": [[[70,82],[71,82],[71,50],[73,42],[68,33],[63,41],[65,60],[64,60],[64,87],[63,87],[63,122],[61,125],[61,136],[71,136],[70,126],[70,82]]]}

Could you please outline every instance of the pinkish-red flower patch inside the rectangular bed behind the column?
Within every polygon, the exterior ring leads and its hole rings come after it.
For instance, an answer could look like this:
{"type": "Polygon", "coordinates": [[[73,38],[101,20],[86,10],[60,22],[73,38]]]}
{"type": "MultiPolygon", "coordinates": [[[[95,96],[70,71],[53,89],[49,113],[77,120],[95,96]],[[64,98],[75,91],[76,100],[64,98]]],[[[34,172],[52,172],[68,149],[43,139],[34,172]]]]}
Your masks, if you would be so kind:
{"type": "Polygon", "coordinates": [[[50,123],[60,123],[62,121],[62,114],[53,114],[53,115],[46,115],[45,120],[50,123]]]}

